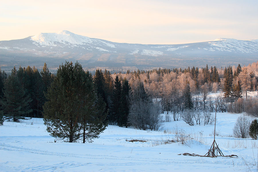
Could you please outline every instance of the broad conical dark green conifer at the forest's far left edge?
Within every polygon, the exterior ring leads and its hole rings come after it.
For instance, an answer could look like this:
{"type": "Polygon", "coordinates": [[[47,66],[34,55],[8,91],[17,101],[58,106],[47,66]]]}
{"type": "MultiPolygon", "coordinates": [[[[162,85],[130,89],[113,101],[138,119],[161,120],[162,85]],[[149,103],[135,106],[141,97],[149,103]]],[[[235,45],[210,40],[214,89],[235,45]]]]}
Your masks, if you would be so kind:
{"type": "MultiPolygon", "coordinates": [[[[15,71],[15,70],[14,70],[15,71]]],[[[13,72],[5,81],[3,96],[1,97],[1,106],[6,119],[13,118],[14,122],[19,119],[26,119],[26,115],[32,110],[29,103],[32,101],[20,84],[15,72],[13,72]]]]}

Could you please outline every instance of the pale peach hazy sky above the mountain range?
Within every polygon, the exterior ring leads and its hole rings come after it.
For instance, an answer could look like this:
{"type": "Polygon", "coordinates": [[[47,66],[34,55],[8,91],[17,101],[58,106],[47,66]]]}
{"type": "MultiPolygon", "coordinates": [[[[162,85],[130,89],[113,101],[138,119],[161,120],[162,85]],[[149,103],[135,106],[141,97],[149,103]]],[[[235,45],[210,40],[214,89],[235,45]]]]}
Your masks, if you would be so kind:
{"type": "Polygon", "coordinates": [[[258,39],[257,9],[257,0],[0,0],[0,40],[61,30],[140,44],[258,39]]]}

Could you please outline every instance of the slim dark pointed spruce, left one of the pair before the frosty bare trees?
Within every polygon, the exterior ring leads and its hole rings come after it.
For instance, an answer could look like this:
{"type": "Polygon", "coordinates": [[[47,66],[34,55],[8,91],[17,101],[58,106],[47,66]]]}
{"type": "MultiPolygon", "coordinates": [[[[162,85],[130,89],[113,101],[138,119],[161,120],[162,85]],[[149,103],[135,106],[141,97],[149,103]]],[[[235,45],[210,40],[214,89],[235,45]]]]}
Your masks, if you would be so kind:
{"type": "Polygon", "coordinates": [[[118,79],[118,75],[116,75],[116,79],[114,82],[114,89],[113,89],[113,95],[111,98],[112,105],[111,105],[111,122],[117,123],[119,126],[120,125],[120,108],[121,108],[121,82],[118,79]]]}

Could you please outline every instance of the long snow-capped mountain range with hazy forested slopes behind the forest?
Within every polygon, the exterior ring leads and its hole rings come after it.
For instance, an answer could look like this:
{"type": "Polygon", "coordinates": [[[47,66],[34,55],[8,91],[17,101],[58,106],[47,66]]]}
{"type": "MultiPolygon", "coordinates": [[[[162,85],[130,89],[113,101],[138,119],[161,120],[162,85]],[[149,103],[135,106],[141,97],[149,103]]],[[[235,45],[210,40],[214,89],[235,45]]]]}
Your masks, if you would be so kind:
{"type": "Polygon", "coordinates": [[[210,42],[175,45],[127,44],[89,38],[63,30],[20,40],[0,41],[0,66],[15,64],[55,68],[78,60],[87,68],[202,67],[248,64],[258,58],[258,40],[219,38],[210,42]]]}

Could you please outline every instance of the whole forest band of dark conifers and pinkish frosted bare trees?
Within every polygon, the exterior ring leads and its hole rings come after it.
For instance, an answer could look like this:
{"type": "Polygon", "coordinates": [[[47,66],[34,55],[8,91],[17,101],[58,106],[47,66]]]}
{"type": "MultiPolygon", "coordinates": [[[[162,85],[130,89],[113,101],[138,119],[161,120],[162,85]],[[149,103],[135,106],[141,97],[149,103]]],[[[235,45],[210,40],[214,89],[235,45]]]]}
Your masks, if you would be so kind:
{"type": "MultiPolygon", "coordinates": [[[[247,112],[257,117],[258,98],[247,96],[258,90],[257,74],[258,62],[246,67],[207,64],[205,68],[113,74],[96,69],[94,75],[78,62],[60,65],[56,75],[46,63],[40,72],[30,66],[14,67],[7,76],[0,69],[0,125],[4,120],[44,118],[52,136],[90,142],[108,124],[159,130],[161,113],[171,112],[172,120],[181,118],[189,125],[211,124],[215,103],[217,112],[247,112]],[[223,94],[207,97],[219,91],[223,94]]],[[[166,120],[171,119],[166,116],[166,120]]]]}

